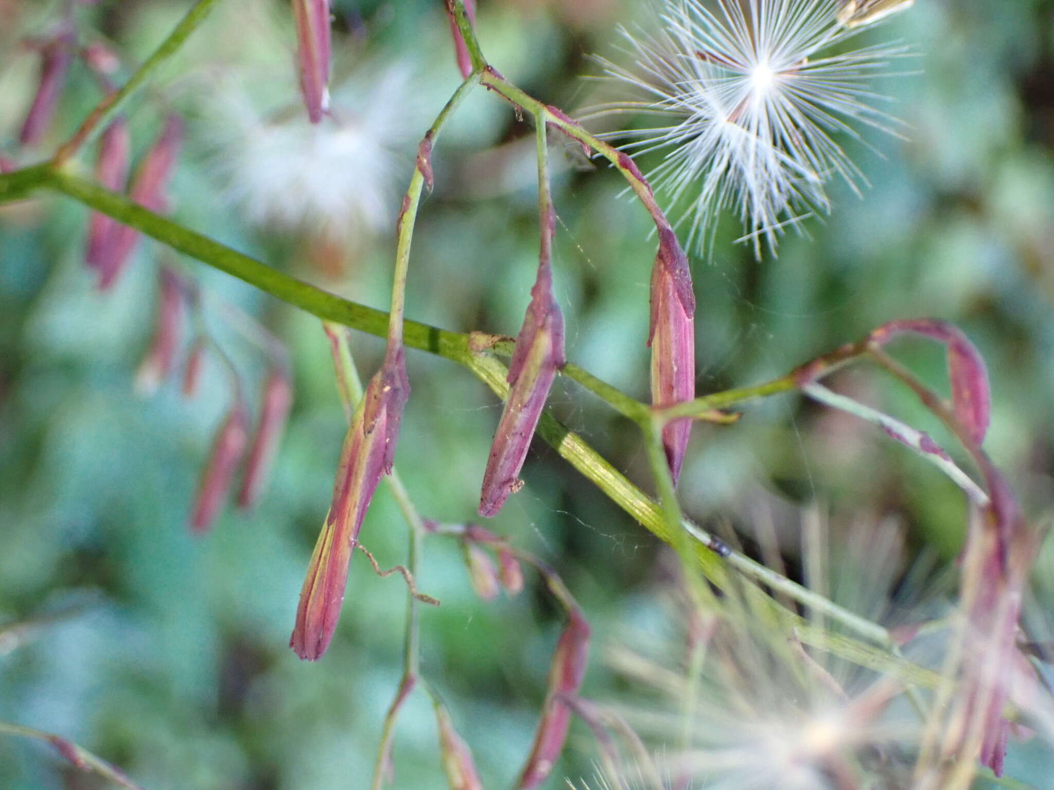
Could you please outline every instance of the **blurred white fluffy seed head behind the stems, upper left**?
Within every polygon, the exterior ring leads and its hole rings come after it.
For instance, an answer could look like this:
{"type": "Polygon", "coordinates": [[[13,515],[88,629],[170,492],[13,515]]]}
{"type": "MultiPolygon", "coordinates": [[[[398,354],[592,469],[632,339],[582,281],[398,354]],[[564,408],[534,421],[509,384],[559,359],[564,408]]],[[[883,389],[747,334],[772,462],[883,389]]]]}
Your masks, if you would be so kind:
{"type": "Polygon", "coordinates": [[[217,169],[231,202],[260,226],[354,242],[388,228],[412,160],[419,112],[408,67],[363,67],[312,124],[265,113],[235,76],[217,93],[217,169]],[[394,208],[393,208],[394,206],[394,208]]]}

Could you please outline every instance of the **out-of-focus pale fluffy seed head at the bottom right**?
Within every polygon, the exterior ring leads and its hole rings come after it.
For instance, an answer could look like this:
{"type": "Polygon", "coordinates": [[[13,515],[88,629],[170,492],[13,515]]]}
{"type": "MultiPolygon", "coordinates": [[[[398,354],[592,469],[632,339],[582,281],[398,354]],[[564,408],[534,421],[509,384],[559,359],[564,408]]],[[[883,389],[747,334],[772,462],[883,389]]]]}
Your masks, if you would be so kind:
{"type": "MultiPolygon", "coordinates": [[[[817,593],[876,619],[891,616],[894,588],[896,603],[909,604],[899,597],[912,589],[902,580],[895,524],[860,520],[835,537],[811,512],[803,532],[802,560],[817,593]]],[[[642,773],[640,750],[626,749],[613,775],[605,770],[581,787],[651,790],[655,782],[644,776],[656,773],[671,789],[911,786],[910,756],[922,725],[904,704],[896,672],[814,649],[806,634],[832,624],[806,611],[807,624],[783,628],[757,592],[735,577],[715,597],[694,596],[687,584],[671,587],[669,626],[635,631],[625,647],[610,649],[613,667],[636,680],[635,704],[616,710],[625,712],[658,770],[642,773]]],[[[896,616],[905,613],[898,607],[896,616]]]]}

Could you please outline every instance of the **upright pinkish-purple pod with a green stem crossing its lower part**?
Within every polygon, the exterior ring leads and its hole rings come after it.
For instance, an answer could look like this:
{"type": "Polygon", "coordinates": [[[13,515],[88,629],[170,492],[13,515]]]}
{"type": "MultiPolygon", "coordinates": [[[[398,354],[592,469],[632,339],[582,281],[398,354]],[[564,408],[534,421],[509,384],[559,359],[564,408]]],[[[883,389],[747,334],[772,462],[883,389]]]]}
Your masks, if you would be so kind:
{"type": "MultiPolygon", "coordinates": [[[[651,402],[667,407],[696,396],[696,297],[688,259],[674,232],[659,231],[651,272],[651,402]]],[[[662,433],[674,483],[688,449],[691,420],[672,420],[662,433]]]]}

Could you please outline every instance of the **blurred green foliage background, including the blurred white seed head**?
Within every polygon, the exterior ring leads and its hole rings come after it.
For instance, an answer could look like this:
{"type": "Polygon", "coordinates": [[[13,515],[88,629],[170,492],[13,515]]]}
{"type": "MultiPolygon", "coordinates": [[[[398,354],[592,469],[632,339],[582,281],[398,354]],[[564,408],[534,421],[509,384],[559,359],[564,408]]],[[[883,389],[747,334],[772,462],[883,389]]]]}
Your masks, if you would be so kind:
{"type": "MultiPolygon", "coordinates": [[[[102,0],[79,8],[78,20],[87,40],[114,42],[128,67],[189,5],[102,0]]],[[[588,56],[617,56],[616,25],[640,11],[632,0],[480,5],[480,38],[495,67],[572,114],[594,96],[583,79],[599,72],[588,56]]],[[[458,76],[440,0],[345,0],[334,12],[338,129],[312,137],[308,154],[295,134],[260,132],[300,129],[289,120],[301,113],[291,16],[277,0],[221,3],[134,101],[133,136],[143,150],[161,110],[178,110],[188,134],[172,216],[386,308],[415,141],[458,76]]],[[[45,34],[57,14],[57,3],[0,0],[0,145],[23,162],[53,150],[99,96],[75,67],[48,140],[18,151],[37,67],[19,42],[45,34]]],[[[897,64],[910,74],[878,84],[906,124],[904,139],[864,131],[870,149],[851,143],[870,189],[860,199],[834,184],[832,215],[807,221],[804,237],[786,237],[778,259],[755,261],[731,243],[730,224],[710,256],[692,256],[698,389],[760,382],[891,319],[954,321],[989,363],[990,452],[1030,516],[1042,518],[1054,501],[1054,3],[918,0],[863,39],[901,39],[914,53],[897,64]]],[[[529,124],[486,92],[458,111],[421,213],[408,316],[516,332],[536,265],[532,149],[529,124]]],[[[617,174],[560,140],[552,151],[568,356],[644,398],[655,245],[647,217],[620,196],[617,174]]],[[[58,615],[9,650],[0,643],[0,719],[61,733],[157,790],[366,787],[402,669],[403,584],[377,578],[356,557],[329,653],[309,665],[287,648],[345,430],[319,323],[154,243],[140,245],[112,293],[99,294],[83,265],[85,218],[64,199],[0,209],[0,628],[58,615]],[[197,278],[207,304],[221,299],[255,314],[294,363],[294,412],[261,505],[228,511],[203,538],[186,522],[228,403],[222,371],[213,358],[193,400],[180,397],[178,382],[150,398],[133,390],[160,262],[197,278]]],[[[265,372],[258,350],[216,311],[206,315],[255,393],[265,372]]],[[[354,350],[369,375],[382,342],[356,337],[354,350]]],[[[944,387],[939,349],[906,342],[898,355],[944,387]]],[[[463,522],[475,513],[499,404],[451,362],[410,352],[408,367],[413,394],[396,465],[426,515],[463,522]]],[[[943,436],[911,393],[873,372],[834,386],[943,436]]],[[[650,490],[630,424],[566,381],[551,402],[650,490]]],[[[695,432],[680,489],[691,516],[713,529],[736,525],[748,548],[753,525],[770,519],[793,558],[800,507],[819,500],[834,520],[896,517],[912,551],[954,559],[964,506],[934,469],[797,397],[747,411],[735,428],[695,432]]],[[[586,692],[609,698],[618,689],[604,647],[656,616],[659,546],[540,443],[523,476],[526,488],[488,526],[564,576],[594,627],[586,692]]],[[[382,565],[403,561],[406,528],[385,487],[362,538],[382,565]]],[[[1040,567],[1054,562],[1045,556],[1040,567]]],[[[423,671],[486,786],[507,786],[530,745],[561,614],[529,574],[518,597],[480,601],[457,546],[442,538],[426,542],[417,584],[443,601],[423,613],[423,671]]],[[[1012,751],[1011,771],[1054,787],[1032,754],[1012,751]]],[[[593,756],[575,726],[551,786],[590,773],[593,756]]],[[[445,787],[423,696],[401,718],[394,758],[396,787],[445,787]]],[[[0,739],[0,787],[97,785],[38,744],[0,739]]]]}

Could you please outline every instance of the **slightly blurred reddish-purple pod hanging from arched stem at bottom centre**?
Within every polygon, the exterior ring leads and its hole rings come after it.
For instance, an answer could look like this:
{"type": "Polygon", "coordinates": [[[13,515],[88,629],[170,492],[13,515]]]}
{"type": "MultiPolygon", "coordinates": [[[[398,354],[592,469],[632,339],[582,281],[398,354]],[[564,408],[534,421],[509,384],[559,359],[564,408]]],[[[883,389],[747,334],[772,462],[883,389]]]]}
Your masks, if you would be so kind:
{"type": "Polygon", "coordinates": [[[520,775],[521,790],[538,787],[552,772],[564,750],[571,711],[563,702],[575,696],[585,676],[589,657],[589,624],[581,612],[572,610],[549,669],[549,688],[542,709],[542,720],[534,733],[534,745],[520,775]]]}

